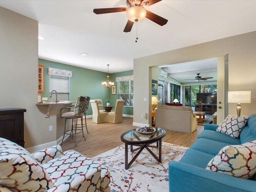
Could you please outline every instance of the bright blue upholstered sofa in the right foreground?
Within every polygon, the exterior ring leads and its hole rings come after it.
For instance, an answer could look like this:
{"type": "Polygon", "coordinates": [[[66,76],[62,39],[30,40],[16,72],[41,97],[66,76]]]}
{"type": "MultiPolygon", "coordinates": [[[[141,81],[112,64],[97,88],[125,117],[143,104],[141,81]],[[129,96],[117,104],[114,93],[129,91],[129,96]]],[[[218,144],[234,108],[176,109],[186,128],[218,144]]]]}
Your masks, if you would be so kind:
{"type": "Polygon", "coordinates": [[[205,124],[204,131],[187,150],[180,162],[169,163],[170,192],[255,192],[256,176],[250,179],[236,178],[206,170],[208,162],[221,148],[256,140],[256,114],[249,116],[240,138],[232,138],[216,132],[218,125],[205,124]]]}

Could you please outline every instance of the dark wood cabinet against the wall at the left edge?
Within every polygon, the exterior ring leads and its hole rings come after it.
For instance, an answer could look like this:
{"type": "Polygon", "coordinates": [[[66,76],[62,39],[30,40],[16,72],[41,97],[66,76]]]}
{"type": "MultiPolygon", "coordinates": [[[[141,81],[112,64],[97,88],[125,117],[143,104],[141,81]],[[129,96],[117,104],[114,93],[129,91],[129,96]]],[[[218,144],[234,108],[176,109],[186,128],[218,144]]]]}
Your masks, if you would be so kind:
{"type": "Polygon", "coordinates": [[[23,108],[0,109],[0,137],[11,140],[24,147],[23,108]]]}

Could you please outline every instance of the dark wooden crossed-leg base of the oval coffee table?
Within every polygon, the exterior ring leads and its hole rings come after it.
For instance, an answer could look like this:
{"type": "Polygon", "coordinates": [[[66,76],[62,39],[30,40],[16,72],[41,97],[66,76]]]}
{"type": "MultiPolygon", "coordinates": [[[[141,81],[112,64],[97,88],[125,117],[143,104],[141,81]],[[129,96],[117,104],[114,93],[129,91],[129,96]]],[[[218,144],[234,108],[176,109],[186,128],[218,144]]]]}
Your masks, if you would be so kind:
{"type": "Polygon", "coordinates": [[[153,144],[155,142],[152,143],[147,143],[147,144],[138,144],[138,145],[130,145],[131,146],[131,152],[134,152],[136,150],[139,150],[136,155],[132,158],[132,160],[130,162],[128,162],[128,145],[127,143],[125,143],[125,169],[128,169],[131,164],[136,160],[136,158],[139,156],[139,154],[143,151],[143,149],[148,150],[148,152],[150,152],[150,154],[158,161],[158,162],[162,162],[162,139],[158,140],[156,142],[156,146],[152,146],[151,144],[153,144]],[[133,146],[138,146],[138,148],[133,149],[133,146]],[[156,156],[156,154],[154,154],[152,152],[152,150],[150,150],[150,148],[148,147],[153,147],[153,148],[159,148],[159,154],[158,156],[156,156]]]}

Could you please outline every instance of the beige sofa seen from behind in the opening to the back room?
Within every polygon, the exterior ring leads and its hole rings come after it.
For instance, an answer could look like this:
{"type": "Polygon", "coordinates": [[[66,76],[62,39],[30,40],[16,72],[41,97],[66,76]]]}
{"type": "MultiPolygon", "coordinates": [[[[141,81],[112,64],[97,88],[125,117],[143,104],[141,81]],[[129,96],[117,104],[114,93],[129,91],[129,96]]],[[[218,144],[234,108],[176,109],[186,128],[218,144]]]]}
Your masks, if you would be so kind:
{"type": "Polygon", "coordinates": [[[196,130],[197,118],[192,107],[157,105],[156,127],[192,133],[196,130]]]}

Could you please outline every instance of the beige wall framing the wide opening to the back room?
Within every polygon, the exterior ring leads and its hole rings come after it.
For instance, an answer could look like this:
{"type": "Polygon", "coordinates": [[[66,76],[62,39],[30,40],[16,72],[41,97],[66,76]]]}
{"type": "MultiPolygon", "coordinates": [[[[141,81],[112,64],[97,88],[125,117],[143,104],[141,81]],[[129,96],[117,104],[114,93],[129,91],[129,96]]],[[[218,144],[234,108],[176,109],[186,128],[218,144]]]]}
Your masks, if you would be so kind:
{"type": "MultiPolygon", "coordinates": [[[[151,124],[151,118],[141,118],[150,107],[144,98],[150,97],[149,82],[152,66],[164,66],[206,58],[229,55],[228,86],[230,91],[250,90],[256,95],[256,32],[206,42],[194,46],[171,50],[159,54],[134,59],[134,125],[151,124]],[[143,76],[141,75],[143,72],[143,76]]],[[[229,104],[229,114],[236,115],[236,104],[229,104]]],[[[241,115],[255,113],[256,99],[251,104],[243,104],[241,115]]]]}

